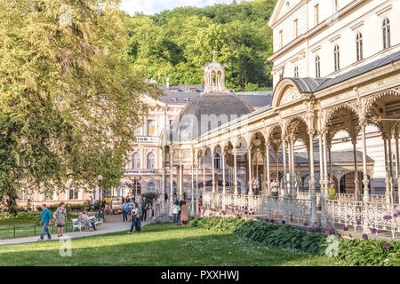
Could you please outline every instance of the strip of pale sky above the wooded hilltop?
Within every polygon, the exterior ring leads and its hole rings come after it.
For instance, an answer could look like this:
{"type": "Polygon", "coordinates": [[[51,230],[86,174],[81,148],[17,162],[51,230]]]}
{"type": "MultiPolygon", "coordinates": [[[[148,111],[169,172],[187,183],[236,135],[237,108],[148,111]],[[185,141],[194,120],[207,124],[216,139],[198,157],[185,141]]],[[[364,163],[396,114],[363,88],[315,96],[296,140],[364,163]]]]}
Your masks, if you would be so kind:
{"type": "MultiPolygon", "coordinates": [[[[231,4],[232,0],[122,0],[121,8],[133,15],[135,12],[143,12],[152,15],[163,10],[172,10],[181,6],[204,7],[213,4],[231,4]]],[[[240,3],[240,1],[236,1],[240,3]]]]}

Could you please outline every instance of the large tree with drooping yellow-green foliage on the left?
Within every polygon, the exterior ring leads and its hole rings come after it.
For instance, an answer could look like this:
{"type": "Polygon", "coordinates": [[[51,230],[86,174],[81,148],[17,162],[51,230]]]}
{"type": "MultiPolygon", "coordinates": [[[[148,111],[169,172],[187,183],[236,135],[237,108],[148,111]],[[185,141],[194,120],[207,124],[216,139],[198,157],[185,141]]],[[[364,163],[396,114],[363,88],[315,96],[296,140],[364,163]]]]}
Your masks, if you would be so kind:
{"type": "Polygon", "coordinates": [[[160,95],[129,63],[116,0],[0,0],[0,201],[51,194],[101,174],[116,185],[160,95]]]}

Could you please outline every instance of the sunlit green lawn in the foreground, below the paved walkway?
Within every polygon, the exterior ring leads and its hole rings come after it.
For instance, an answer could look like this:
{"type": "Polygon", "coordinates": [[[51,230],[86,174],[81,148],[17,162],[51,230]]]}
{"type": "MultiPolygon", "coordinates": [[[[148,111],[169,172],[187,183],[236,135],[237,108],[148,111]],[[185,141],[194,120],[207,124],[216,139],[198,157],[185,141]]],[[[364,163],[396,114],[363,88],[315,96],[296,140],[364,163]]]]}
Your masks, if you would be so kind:
{"type": "Polygon", "coordinates": [[[141,233],[72,239],[72,256],[59,241],[0,246],[0,265],[334,265],[332,258],[268,249],[235,234],[153,224],[141,233]]]}

